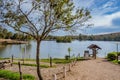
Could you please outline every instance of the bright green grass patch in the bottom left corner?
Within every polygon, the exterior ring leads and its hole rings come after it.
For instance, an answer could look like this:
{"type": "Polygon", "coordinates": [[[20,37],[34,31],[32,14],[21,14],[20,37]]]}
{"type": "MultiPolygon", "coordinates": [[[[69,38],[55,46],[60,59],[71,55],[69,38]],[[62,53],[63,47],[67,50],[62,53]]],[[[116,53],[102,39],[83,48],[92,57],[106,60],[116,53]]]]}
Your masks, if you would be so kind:
{"type": "MultiPolygon", "coordinates": [[[[18,72],[12,72],[8,70],[0,70],[0,77],[9,80],[19,80],[20,75],[18,72]]],[[[23,80],[35,80],[35,77],[29,74],[23,74],[23,80]]]]}

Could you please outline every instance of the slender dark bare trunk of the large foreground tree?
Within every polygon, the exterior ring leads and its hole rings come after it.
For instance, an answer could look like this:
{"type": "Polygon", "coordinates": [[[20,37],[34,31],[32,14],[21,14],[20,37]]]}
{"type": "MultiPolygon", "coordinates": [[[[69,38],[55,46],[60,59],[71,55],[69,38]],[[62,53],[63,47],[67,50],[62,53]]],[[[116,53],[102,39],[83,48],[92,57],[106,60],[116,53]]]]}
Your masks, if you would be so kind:
{"type": "Polygon", "coordinates": [[[41,41],[37,41],[37,50],[36,50],[36,64],[37,64],[37,75],[39,80],[43,80],[41,71],[40,71],[40,60],[39,60],[39,54],[40,54],[40,43],[41,41]]]}

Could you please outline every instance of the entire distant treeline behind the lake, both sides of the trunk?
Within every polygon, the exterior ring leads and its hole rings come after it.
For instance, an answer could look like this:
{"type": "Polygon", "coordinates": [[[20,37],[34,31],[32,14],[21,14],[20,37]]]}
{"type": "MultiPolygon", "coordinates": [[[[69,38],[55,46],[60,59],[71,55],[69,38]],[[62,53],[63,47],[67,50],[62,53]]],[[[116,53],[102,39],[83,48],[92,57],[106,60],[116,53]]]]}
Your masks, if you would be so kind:
{"type": "MultiPolygon", "coordinates": [[[[15,40],[31,40],[32,37],[23,33],[12,33],[5,28],[0,27],[0,38],[15,40]]],[[[83,35],[78,36],[52,36],[49,35],[46,40],[56,40],[56,42],[71,42],[72,40],[90,40],[90,41],[120,41],[120,32],[102,35],[83,35]]]]}

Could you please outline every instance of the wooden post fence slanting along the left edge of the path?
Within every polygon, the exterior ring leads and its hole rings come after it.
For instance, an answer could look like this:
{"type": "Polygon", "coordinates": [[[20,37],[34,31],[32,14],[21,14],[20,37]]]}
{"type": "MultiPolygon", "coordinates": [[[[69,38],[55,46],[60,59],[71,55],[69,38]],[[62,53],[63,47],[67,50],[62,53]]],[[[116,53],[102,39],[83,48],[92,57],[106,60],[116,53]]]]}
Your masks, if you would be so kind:
{"type": "MultiPolygon", "coordinates": [[[[72,68],[76,65],[79,55],[75,58],[75,55],[71,57],[71,63],[65,64],[64,66],[49,70],[49,75],[46,75],[44,80],[65,80],[67,73],[69,73],[72,68]],[[73,58],[73,59],[72,59],[73,58]],[[49,77],[49,78],[48,78],[49,77]]],[[[48,74],[48,73],[44,73],[48,74]]]]}

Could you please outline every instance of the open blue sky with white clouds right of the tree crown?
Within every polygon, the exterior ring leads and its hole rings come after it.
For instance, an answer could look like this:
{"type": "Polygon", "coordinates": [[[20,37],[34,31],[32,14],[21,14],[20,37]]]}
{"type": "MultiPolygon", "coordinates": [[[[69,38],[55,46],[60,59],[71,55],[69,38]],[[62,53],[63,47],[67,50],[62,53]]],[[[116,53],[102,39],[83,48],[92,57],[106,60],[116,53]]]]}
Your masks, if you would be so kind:
{"type": "Polygon", "coordinates": [[[84,34],[105,34],[120,32],[120,0],[74,0],[75,6],[91,12],[90,23],[84,34]]]}

